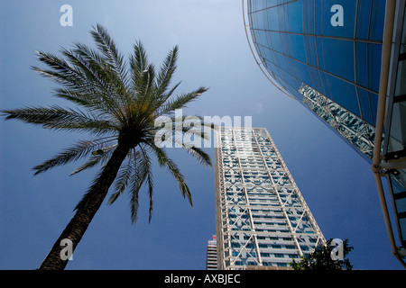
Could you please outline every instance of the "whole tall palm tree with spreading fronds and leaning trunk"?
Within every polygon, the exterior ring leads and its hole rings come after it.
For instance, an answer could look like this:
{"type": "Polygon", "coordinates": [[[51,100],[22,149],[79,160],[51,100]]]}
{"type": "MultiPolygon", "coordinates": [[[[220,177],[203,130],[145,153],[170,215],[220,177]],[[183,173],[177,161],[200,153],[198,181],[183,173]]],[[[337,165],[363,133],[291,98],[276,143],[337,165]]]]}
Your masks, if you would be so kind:
{"type": "MultiPolygon", "coordinates": [[[[134,44],[134,53],[125,62],[106,29],[98,24],[92,28],[90,33],[97,49],[74,43],[71,49],[60,50],[63,58],[37,51],[38,59],[47,68],[32,67],[42,76],[59,83],[61,87],[55,89],[56,96],[74,103],[74,108],[65,109],[54,105],[2,111],[6,120],[16,119],[51,130],[87,132],[93,137],[78,141],[56,157],[35,166],[34,175],[82,158],[87,158],[87,161],[72,174],[101,165],[88,192],[78,202],[75,215],[60,234],[40,269],[65,268],[68,260],[61,257],[61,241],[69,239],[72,249],[77,247],[112,184],[115,184],[115,192],[110,195],[108,203],[115,202],[120,194],[128,191],[131,195],[133,223],[137,220],[138,192],[145,184],[150,199],[151,221],[153,156],[160,166],[168,168],[179,184],[181,194],[192,205],[184,176],[156,139],[164,138],[165,135],[166,140],[168,135],[175,139],[175,130],[183,134],[191,133],[198,139],[206,139],[205,133],[192,129],[192,125],[188,127],[183,124],[180,127],[180,121],[185,120],[186,116],[179,121],[175,117],[175,110],[185,107],[208,89],[199,87],[188,94],[172,96],[180,85],[178,83],[170,87],[176,69],[177,46],[171,49],[159,73],[155,74],[155,67],[148,63],[140,41],[134,44]],[[157,125],[157,120],[163,116],[177,124],[165,127],[157,125]],[[162,133],[165,128],[171,129],[170,134],[162,133]]],[[[206,125],[202,118],[198,120],[206,125]]],[[[211,166],[210,157],[201,148],[188,143],[180,145],[200,163],[211,166]]]]}

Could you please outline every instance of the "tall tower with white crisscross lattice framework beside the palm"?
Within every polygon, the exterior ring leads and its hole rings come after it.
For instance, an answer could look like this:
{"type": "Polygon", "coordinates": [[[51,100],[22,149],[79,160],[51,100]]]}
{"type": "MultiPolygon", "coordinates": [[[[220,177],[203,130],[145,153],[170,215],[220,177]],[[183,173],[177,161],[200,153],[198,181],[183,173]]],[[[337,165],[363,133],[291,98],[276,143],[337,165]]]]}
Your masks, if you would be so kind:
{"type": "Polygon", "coordinates": [[[325,243],[265,129],[217,130],[216,205],[219,269],[289,267],[325,243]]]}

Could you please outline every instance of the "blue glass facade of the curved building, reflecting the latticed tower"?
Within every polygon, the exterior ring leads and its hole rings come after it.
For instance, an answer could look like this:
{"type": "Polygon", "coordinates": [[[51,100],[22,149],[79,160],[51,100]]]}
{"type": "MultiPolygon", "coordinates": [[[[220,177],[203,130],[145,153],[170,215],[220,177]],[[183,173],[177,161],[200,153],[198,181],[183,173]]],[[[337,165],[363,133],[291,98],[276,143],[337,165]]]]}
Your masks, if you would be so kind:
{"type": "Polygon", "coordinates": [[[337,134],[371,160],[385,1],[259,0],[248,9],[263,67],[324,120],[327,108],[337,134]]]}

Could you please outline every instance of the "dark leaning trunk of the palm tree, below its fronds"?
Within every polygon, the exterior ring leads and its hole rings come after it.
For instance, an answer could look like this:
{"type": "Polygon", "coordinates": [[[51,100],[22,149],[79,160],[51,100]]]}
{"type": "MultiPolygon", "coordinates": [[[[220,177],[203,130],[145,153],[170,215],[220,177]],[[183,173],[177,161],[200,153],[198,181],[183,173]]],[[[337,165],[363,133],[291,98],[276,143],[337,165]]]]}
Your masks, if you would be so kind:
{"type": "Polygon", "coordinates": [[[72,251],[78,246],[78,242],[85,234],[88,225],[105,200],[108,189],[115,181],[115,176],[128,151],[129,148],[123,145],[118,145],[115,148],[112,157],[108,160],[97,182],[89,190],[85,202],[78,207],[76,214],[60,234],[60,238],[58,238],[48,256],[43,260],[39,268],[40,270],[63,270],[67,266],[69,260],[64,260],[61,257],[61,252],[63,253],[62,249],[65,248],[64,244],[61,244],[61,241],[63,239],[71,240],[72,251]]]}

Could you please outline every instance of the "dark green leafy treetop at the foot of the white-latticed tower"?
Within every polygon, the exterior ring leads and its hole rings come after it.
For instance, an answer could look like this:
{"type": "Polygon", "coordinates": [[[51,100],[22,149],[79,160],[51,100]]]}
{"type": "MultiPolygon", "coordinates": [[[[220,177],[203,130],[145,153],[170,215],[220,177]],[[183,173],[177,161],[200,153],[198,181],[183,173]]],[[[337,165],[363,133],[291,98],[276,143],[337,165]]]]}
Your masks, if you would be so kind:
{"type": "Polygon", "coordinates": [[[348,253],[354,248],[348,246],[348,239],[343,241],[343,259],[333,260],[331,252],[334,247],[331,245],[330,238],[327,241],[327,245],[323,247],[317,247],[313,253],[301,257],[300,262],[293,260],[291,262],[291,268],[293,270],[316,270],[316,271],[328,271],[328,270],[352,270],[353,266],[350,264],[349,259],[346,259],[348,253]]]}

